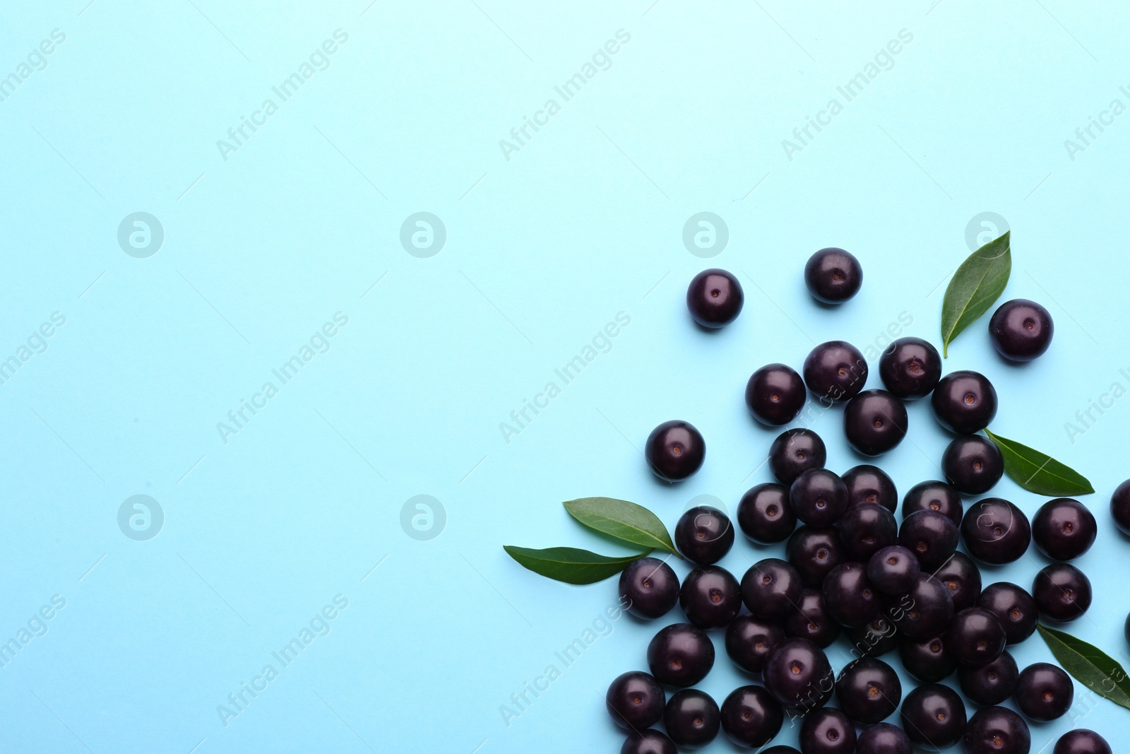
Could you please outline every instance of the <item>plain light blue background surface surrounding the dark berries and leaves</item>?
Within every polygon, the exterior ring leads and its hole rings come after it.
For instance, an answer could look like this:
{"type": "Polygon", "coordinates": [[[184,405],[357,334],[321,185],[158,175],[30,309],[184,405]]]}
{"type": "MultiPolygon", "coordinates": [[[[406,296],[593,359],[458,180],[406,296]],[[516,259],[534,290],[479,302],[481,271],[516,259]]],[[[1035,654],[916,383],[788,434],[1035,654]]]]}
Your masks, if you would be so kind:
{"type": "MultiPolygon", "coordinates": [[[[1012,228],[1006,295],[1046,304],[1055,340],[1014,367],[981,321],[946,367],[983,371],[1001,397],[993,428],[1094,482],[1101,531],[1079,565],[1096,597],[1071,631],[1124,657],[1128,544],[1106,501],[1130,476],[1130,400],[1074,443],[1063,425],[1130,387],[1130,115],[1074,161],[1063,142],[1130,104],[1130,10],[76,0],[0,14],[0,76],[66,34],[0,102],[0,358],[53,312],[67,320],[0,385],[0,636],[66,599],[0,669],[5,751],[618,751],[605,688],[644,667],[663,622],[616,621],[507,726],[499,707],[615,600],[615,581],[551,582],[502,545],[616,552],[567,519],[560,501],[584,495],[671,526],[697,495],[732,511],[768,479],[774,435],[746,414],[749,373],[799,366],[831,338],[873,345],[904,312],[906,333],[937,341],[940,286],[983,211],[1012,228]],[[223,159],[217,139],[339,28],[329,67],[223,159]],[[618,29],[631,41],[610,68],[507,161],[499,139],[618,29]],[[901,29],[913,41],[893,68],[845,103],[836,87],[901,29]],[[782,140],[837,96],[844,111],[790,161],[782,140]],[[147,259],[116,242],[134,211],[164,227],[147,259]],[[428,259],[399,242],[417,211],[447,232],[428,259]],[[698,211],[729,227],[711,260],[681,241],[698,211]],[[835,311],[800,275],[827,245],[866,270],[835,311]],[[707,266],[746,286],[718,333],[683,303],[707,266]],[[216,424],[334,312],[348,324],[329,352],[223,442],[216,424]],[[505,442],[499,423],[618,312],[631,324],[610,350],[505,442]],[[664,488],[637,449],[675,417],[709,453],[664,488]],[[118,526],[134,494],[165,514],[147,541],[118,526]],[[431,540],[401,528],[418,494],[446,511],[431,540]],[[336,595],[348,607],[330,633],[225,727],[217,705],[336,595]]],[[[844,470],[860,459],[838,422],[812,425],[844,470]]],[[[911,424],[881,461],[901,491],[939,475],[947,442],[928,406],[911,424]]],[[[994,492],[1029,514],[1042,502],[1007,480],[994,492]]],[[[781,551],[739,540],[723,565],[740,575],[781,551]]],[[[1028,586],[1042,563],[1033,551],[985,582],[1028,586]]],[[[720,640],[703,687],[721,701],[745,679],[720,640]]],[[[1016,657],[1050,659],[1038,639],[1016,657]]],[[[1128,714],[1083,694],[1072,713],[1111,738],[1128,714]]],[[[1033,752],[1071,726],[1034,725],[1033,752]]],[[[709,751],[733,749],[720,737],[709,751]]]]}

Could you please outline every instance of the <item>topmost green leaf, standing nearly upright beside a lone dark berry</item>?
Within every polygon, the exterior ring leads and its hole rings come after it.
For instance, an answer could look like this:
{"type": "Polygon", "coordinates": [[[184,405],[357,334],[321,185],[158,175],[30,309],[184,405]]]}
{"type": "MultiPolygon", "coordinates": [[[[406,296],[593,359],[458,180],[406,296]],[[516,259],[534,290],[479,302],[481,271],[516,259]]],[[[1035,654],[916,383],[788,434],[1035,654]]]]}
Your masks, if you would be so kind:
{"type": "Polygon", "coordinates": [[[1005,291],[1012,270],[1010,231],[981,246],[954,272],[941,301],[941,353],[948,356],[949,343],[989,311],[1005,291]]]}

